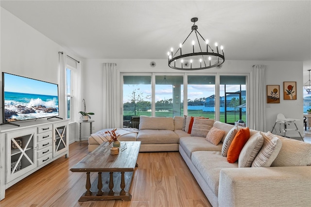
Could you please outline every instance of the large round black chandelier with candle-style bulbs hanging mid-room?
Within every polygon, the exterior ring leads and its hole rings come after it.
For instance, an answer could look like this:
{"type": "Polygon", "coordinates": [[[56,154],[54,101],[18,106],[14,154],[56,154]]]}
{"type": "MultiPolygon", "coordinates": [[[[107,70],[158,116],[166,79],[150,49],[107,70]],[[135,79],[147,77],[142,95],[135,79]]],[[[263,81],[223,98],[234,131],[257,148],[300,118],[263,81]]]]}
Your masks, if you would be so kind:
{"type": "Polygon", "coordinates": [[[208,40],[205,40],[203,36],[198,32],[198,26],[195,25],[195,22],[198,21],[197,17],[191,18],[193,25],[191,27],[191,32],[185,39],[183,43],[179,44],[179,48],[173,54],[173,48],[171,52],[168,52],[168,61],[169,67],[177,70],[202,70],[207,68],[220,68],[225,62],[224,47],[221,46],[221,54],[219,53],[218,44],[215,43],[216,52],[208,44],[208,40]],[[193,32],[194,31],[194,32],[193,32]],[[193,32],[193,33],[192,33],[193,32]],[[192,33],[193,39],[191,44],[188,42],[185,44],[187,39],[192,33]],[[198,36],[199,34],[199,36],[198,36]],[[199,37],[200,40],[199,40],[199,37]],[[186,48],[187,47],[187,48],[186,48]],[[205,51],[202,47],[206,48],[205,51]],[[182,50],[183,48],[183,50],[182,50]],[[190,53],[182,53],[182,51],[190,51],[190,53]],[[178,53],[178,54],[177,54],[178,53]]]}

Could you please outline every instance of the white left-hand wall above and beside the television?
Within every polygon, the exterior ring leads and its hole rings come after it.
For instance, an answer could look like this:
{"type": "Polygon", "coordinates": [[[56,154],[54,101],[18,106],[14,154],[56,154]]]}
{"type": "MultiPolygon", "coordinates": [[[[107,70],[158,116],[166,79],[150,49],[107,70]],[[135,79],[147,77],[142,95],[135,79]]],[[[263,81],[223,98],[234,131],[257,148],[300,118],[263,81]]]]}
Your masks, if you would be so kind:
{"type": "MultiPolygon", "coordinates": [[[[58,52],[65,51],[71,57],[81,60],[7,10],[0,9],[1,72],[59,84],[58,52]]],[[[65,109],[61,107],[64,101],[65,97],[59,97],[60,117],[63,118],[65,109]]],[[[69,131],[76,131],[76,125],[70,125],[69,131]]],[[[69,134],[69,143],[75,141],[75,136],[76,133],[69,134]]]]}

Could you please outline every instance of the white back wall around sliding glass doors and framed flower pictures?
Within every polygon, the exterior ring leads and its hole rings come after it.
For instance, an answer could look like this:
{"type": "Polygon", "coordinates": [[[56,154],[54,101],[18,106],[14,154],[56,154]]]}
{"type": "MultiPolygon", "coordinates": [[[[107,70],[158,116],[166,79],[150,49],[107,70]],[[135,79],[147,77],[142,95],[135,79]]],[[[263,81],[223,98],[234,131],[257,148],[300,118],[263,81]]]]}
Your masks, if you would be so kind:
{"type": "MultiPolygon", "coordinates": [[[[103,63],[116,63],[119,72],[170,72],[181,73],[183,71],[173,70],[167,66],[167,60],[124,60],[124,59],[87,59],[83,71],[83,97],[86,99],[88,111],[95,112],[92,119],[95,131],[104,128],[102,117],[105,116],[102,110],[103,100],[103,63]],[[155,61],[156,66],[150,67],[150,62],[155,61]]],[[[193,73],[250,73],[252,76],[253,65],[266,65],[265,84],[280,85],[280,91],[283,90],[283,81],[296,81],[298,90],[297,100],[283,100],[283,94],[280,94],[279,104],[265,104],[266,106],[266,131],[272,129],[277,113],[283,113],[286,117],[301,119],[297,122],[299,130],[303,132],[303,63],[302,62],[281,62],[281,61],[225,61],[221,69],[206,69],[193,71],[193,73]]],[[[251,83],[251,80],[250,80],[251,83]]],[[[266,89],[265,89],[266,90],[266,89]]],[[[264,100],[266,103],[266,100],[264,100]]],[[[120,108],[122,105],[120,105],[120,108]]],[[[252,116],[253,109],[249,109],[252,116]]],[[[251,119],[250,119],[251,120],[251,119]]],[[[121,120],[120,120],[121,122],[121,120]]],[[[287,133],[288,135],[299,136],[295,131],[287,133]]]]}

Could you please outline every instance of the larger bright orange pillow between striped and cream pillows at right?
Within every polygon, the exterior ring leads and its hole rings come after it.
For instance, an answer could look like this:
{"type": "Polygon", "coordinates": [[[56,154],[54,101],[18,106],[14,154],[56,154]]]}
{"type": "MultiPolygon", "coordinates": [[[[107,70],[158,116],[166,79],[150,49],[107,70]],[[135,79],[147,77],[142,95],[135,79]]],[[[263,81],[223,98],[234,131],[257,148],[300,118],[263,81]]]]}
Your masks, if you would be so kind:
{"type": "Polygon", "coordinates": [[[249,128],[241,128],[232,140],[229,146],[227,161],[229,163],[235,163],[239,159],[239,155],[242,151],[243,146],[250,137],[249,128]]]}

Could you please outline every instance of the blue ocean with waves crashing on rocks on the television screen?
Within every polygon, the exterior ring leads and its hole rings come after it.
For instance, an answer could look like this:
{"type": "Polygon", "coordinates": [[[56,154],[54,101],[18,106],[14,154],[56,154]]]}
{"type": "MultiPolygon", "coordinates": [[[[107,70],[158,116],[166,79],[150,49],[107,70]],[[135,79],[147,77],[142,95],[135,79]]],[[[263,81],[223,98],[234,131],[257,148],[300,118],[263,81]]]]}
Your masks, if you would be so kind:
{"type": "Polygon", "coordinates": [[[58,116],[58,97],[4,92],[4,114],[8,122],[58,116]]]}

